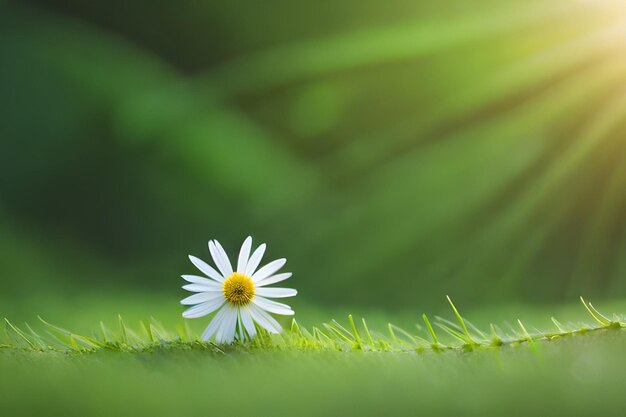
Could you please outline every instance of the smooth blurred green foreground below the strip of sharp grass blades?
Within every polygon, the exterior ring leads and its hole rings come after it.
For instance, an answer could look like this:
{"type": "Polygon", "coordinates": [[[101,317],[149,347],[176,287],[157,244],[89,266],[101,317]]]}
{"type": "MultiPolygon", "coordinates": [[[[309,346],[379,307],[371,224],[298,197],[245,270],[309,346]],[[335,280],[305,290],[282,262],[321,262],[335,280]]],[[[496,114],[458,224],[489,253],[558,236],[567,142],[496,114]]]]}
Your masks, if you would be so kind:
{"type": "Polygon", "coordinates": [[[626,335],[415,352],[0,350],[3,415],[621,416],[626,335]]]}

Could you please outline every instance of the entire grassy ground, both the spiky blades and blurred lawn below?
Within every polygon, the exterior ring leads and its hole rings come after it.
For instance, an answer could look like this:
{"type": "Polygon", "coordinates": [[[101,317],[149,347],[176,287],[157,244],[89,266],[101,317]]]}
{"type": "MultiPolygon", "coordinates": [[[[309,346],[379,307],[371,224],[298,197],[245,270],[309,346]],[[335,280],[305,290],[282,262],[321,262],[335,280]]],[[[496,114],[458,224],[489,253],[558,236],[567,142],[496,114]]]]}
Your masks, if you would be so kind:
{"type": "Polygon", "coordinates": [[[131,328],[120,319],[90,336],[7,321],[0,412],[621,416],[624,319],[583,304],[594,324],[553,319],[547,332],[519,321],[481,331],[450,302],[455,322],[424,316],[417,328],[380,332],[351,317],[293,322],[282,335],[229,346],[156,321],[131,328]]]}

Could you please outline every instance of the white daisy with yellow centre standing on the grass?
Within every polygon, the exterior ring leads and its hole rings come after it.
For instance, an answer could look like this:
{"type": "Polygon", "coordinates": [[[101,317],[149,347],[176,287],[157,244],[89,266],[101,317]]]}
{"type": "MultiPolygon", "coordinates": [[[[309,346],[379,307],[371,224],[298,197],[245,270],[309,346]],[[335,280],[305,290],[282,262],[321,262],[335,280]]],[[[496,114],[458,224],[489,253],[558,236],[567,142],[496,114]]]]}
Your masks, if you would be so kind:
{"type": "Polygon", "coordinates": [[[182,275],[190,283],[184,285],[183,289],[196,293],[180,302],[193,305],[183,313],[183,317],[203,317],[219,310],[202,333],[202,339],[214,337],[218,343],[231,343],[235,337],[243,340],[246,334],[252,338],[256,334],[254,322],[270,333],[278,333],[282,328],[268,313],[293,316],[291,307],[269,298],[293,297],[298,292],[291,288],[266,287],[291,277],[291,272],[276,273],[287,260],[277,259],[257,270],[265,247],[262,244],[250,256],[252,237],[248,236],[241,245],[237,269],[233,270],[222,245],[217,240],[210,240],[209,252],[219,272],[201,259],[189,255],[189,260],[210,279],[182,275]]]}

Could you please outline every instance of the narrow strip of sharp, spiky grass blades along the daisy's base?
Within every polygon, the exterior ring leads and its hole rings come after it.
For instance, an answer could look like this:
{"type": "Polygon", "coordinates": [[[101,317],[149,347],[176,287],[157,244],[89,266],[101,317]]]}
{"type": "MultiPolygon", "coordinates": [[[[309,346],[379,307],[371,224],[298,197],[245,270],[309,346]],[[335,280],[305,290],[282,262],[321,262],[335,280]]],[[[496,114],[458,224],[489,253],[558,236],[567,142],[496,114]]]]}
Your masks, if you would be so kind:
{"type": "Polygon", "coordinates": [[[407,352],[424,350],[466,350],[499,348],[501,346],[528,344],[533,349],[539,341],[551,341],[564,337],[603,332],[626,327],[623,317],[614,315],[609,318],[581,297],[584,308],[595,321],[594,325],[564,325],[554,317],[555,329],[551,331],[529,332],[521,320],[516,327],[503,330],[494,324],[487,331],[464,319],[458,309],[448,298],[448,302],[456,323],[442,317],[431,321],[426,314],[422,315],[423,326],[416,325],[416,331],[403,329],[388,323],[385,332],[370,330],[365,319],[355,322],[352,315],[344,326],[333,320],[322,326],[306,329],[295,320],[291,328],[282,334],[274,335],[258,328],[258,336],[234,345],[218,346],[202,341],[185,324],[171,331],[159,322],[141,322],[140,329],[132,329],[119,317],[119,326],[112,330],[100,322],[98,332],[93,335],[78,334],[39,318],[44,332],[34,330],[29,324],[24,328],[5,319],[6,334],[9,343],[0,345],[5,349],[26,349],[33,351],[66,351],[66,352],[97,352],[109,350],[118,352],[146,352],[154,350],[192,350],[204,349],[214,352],[225,350],[298,350],[298,351],[376,351],[376,352],[407,352]],[[439,332],[439,333],[438,333],[439,332]],[[445,338],[442,336],[446,336],[445,338]]]}

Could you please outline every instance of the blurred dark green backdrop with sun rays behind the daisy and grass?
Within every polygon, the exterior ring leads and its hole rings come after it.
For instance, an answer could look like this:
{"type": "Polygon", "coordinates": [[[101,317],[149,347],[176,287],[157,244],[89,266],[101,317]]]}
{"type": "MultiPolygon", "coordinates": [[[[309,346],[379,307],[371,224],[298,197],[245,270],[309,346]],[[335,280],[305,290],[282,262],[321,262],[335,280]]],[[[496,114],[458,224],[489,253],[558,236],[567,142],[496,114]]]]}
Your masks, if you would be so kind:
{"type": "Polygon", "coordinates": [[[0,1],[0,57],[0,315],[179,320],[248,234],[296,312],[626,295],[624,2],[0,1]]]}

